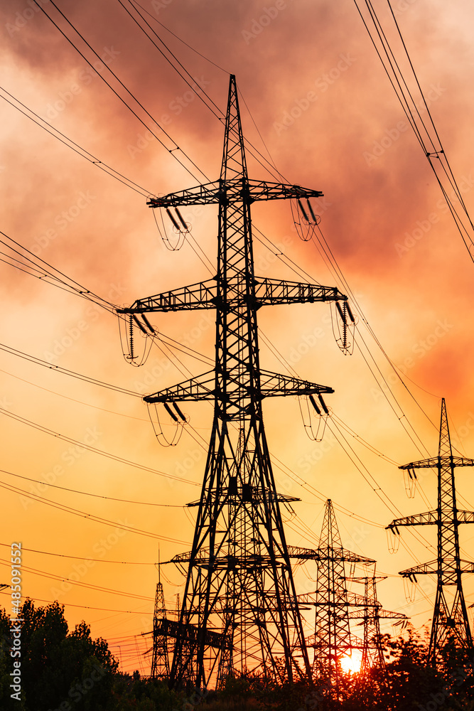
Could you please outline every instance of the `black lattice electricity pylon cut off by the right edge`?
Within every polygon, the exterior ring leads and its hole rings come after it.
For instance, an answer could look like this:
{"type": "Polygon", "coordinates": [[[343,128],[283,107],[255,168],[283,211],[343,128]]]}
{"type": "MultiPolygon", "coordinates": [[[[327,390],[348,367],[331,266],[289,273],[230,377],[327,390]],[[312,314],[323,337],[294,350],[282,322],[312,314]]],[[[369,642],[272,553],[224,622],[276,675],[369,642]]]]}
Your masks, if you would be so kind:
{"type": "Polygon", "coordinates": [[[470,634],[468,612],[465,606],[461,577],[474,572],[474,563],[461,560],[459,552],[459,524],[474,523],[474,512],[460,510],[456,506],[454,469],[456,466],[474,466],[474,459],[453,456],[448,415],[444,398],[441,402],[438,456],[423,461],[404,464],[399,469],[408,469],[416,478],[415,469],[438,471],[438,508],[435,511],[399,518],[387,526],[397,532],[399,526],[422,526],[433,524],[438,528],[438,557],[429,563],[415,565],[399,574],[416,582],[416,575],[435,574],[437,577],[433,624],[428,651],[428,664],[436,667],[439,651],[448,638],[453,637],[461,648],[472,653],[473,638],[470,634]],[[448,602],[446,592],[453,589],[453,601],[448,602]]]}

